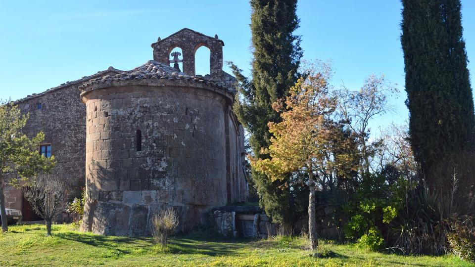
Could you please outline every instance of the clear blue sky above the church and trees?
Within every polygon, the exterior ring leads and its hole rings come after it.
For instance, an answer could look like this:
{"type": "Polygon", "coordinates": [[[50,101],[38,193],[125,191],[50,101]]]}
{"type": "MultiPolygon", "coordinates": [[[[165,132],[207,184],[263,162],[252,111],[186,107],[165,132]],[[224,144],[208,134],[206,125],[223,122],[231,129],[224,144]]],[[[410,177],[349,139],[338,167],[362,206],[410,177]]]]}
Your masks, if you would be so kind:
{"type": "MultiPolygon", "coordinates": [[[[475,1],[462,3],[475,62],[475,1]]],[[[304,57],[332,60],[335,86],[343,81],[358,89],[372,73],[398,84],[400,96],[391,100],[397,112],[375,126],[407,118],[399,0],[300,0],[297,13],[304,57]]],[[[150,44],[158,37],[184,27],[218,34],[224,59],[249,73],[249,23],[247,0],[0,0],[0,98],[22,98],[109,66],[130,70],[152,59],[150,44]]],[[[474,88],[475,63],[469,69],[474,88]]]]}

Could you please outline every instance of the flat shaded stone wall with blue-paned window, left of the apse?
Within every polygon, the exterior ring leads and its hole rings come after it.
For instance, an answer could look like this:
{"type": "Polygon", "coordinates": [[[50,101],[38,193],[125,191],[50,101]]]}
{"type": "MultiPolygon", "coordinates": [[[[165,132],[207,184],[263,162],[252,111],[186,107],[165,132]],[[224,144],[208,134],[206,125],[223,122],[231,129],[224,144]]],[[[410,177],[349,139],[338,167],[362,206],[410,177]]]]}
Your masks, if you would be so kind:
{"type": "MultiPolygon", "coordinates": [[[[91,77],[115,73],[109,69],[91,77]]],[[[79,97],[80,83],[68,82],[15,102],[23,114],[30,115],[23,132],[30,138],[43,132],[43,143],[51,144],[51,154],[57,161],[53,175],[67,181],[66,201],[80,196],[85,186],[86,106],[79,97]]],[[[6,208],[22,210],[21,190],[7,187],[5,203],[6,208]]]]}

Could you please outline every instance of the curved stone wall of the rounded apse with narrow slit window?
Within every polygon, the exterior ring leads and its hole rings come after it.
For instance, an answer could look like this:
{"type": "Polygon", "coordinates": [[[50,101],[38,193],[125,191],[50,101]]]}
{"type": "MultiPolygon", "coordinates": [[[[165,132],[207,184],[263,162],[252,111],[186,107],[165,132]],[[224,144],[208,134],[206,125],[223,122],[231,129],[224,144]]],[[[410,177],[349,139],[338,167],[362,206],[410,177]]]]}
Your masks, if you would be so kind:
{"type": "MultiPolygon", "coordinates": [[[[210,207],[226,205],[232,170],[227,167],[225,121],[231,117],[222,95],[167,86],[90,94],[84,230],[145,235],[151,216],[167,206],[179,211],[181,229],[187,230],[207,223],[210,207]],[[137,130],[142,151],[137,151],[137,130]]],[[[239,133],[235,125],[230,127],[230,133],[239,133]]],[[[228,149],[238,155],[240,147],[234,143],[228,149]]],[[[236,200],[242,199],[231,198],[236,200]]]]}

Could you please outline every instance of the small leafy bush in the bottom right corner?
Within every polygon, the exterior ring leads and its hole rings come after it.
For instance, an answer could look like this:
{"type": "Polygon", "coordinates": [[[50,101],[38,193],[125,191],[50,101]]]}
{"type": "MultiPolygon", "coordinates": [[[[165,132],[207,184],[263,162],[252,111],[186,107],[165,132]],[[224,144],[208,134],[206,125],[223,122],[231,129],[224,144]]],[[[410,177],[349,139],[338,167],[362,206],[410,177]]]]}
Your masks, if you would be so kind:
{"type": "Polygon", "coordinates": [[[450,250],[464,261],[475,263],[475,227],[470,223],[456,223],[447,234],[450,250]]]}

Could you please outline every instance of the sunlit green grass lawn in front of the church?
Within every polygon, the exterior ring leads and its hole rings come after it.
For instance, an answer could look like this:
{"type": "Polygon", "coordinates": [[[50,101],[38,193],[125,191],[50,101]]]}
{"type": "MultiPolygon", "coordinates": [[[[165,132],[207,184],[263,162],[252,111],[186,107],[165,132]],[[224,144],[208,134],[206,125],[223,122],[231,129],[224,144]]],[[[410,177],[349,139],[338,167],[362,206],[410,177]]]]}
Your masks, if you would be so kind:
{"type": "Polygon", "coordinates": [[[101,236],[53,225],[10,226],[0,234],[0,266],[474,266],[452,256],[401,256],[321,240],[327,258],[309,257],[303,238],[220,240],[188,235],[164,251],[151,238],[101,236]]]}

